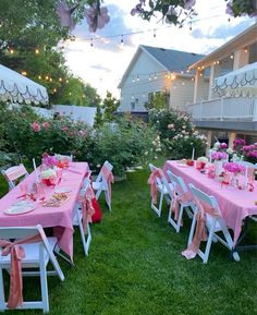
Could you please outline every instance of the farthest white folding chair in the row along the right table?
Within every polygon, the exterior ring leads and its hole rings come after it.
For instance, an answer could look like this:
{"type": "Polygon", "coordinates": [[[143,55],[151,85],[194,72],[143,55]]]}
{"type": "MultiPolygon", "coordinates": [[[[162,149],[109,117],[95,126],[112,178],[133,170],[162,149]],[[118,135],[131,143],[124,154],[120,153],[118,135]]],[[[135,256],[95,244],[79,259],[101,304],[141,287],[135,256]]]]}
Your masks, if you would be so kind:
{"type": "Polygon", "coordinates": [[[156,187],[157,192],[160,193],[160,198],[159,198],[159,205],[158,208],[155,205],[152,198],[151,198],[151,209],[158,215],[158,217],[161,216],[161,210],[162,210],[162,202],[163,197],[166,198],[167,204],[171,203],[172,199],[172,191],[173,191],[173,185],[172,183],[168,183],[168,180],[163,173],[163,171],[160,168],[155,167],[152,163],[149,163],[149,168],[151,171],[151,174],[155,172],[159,173],[158,177],[156,177],[156,187]]]}

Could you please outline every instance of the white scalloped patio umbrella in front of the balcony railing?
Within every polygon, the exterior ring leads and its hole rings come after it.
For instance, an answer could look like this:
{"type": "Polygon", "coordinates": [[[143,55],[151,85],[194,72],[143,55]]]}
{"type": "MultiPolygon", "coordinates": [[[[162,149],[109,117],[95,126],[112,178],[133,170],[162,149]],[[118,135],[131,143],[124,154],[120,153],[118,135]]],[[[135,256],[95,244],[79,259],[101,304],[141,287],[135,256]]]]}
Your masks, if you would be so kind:
{"type": "Polygon", "coordinates": [[[257,96],[257,62],[217,77],[212,88],[219,96],[257,96]]]}

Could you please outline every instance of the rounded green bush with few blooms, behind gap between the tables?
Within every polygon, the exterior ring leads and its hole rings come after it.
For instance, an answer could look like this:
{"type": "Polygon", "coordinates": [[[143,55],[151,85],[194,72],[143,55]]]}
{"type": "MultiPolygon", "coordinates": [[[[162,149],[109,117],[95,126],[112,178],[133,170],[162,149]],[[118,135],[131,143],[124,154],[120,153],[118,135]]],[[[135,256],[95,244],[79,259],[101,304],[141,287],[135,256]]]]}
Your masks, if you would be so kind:
{"type": "Polygon", "coordinates": [[[106,123],[96,130],[88,160],[93,168],[109,160],[113,165],[113,172],[122,174],[128,167],[154,157],[155,138],[155,130],[143,122],[121,119],[115,123],[106,123]]]}

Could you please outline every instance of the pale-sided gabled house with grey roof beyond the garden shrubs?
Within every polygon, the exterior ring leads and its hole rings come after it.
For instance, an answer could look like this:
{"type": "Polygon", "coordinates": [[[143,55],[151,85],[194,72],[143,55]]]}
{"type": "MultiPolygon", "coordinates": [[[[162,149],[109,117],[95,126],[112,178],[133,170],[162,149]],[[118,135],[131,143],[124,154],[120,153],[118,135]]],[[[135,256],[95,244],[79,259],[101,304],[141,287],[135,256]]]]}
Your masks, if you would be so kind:
{"type": "MultiPolygon", "coordinates": [[[[139,46],[126,69],[119,88],[120,111],[146,111],[145,104],[155,93],[166,93],[170,107],[182,109],[193,101],[194,71],[188,65],[203,54],[172,49],[139,46]]],[[[203,93],[208,94],[205,77],[203,93]]]]}

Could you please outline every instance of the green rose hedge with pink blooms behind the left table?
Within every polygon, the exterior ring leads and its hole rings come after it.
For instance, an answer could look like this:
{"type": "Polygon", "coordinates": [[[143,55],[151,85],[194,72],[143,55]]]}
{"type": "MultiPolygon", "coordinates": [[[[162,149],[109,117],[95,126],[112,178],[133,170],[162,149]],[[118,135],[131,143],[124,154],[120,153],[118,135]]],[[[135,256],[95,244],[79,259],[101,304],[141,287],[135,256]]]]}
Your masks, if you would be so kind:
{"type": "Polygon", "coordinates": [[[38,161],[44,152],[73,154],[76,159],[84,159],[83,152],[90,137],[90,129],[84,122],[73,121],[70,117],[45,120],[25,106],[2,110],[0,117],[0,125],[4,125],[5,152],[38,161]]]}

